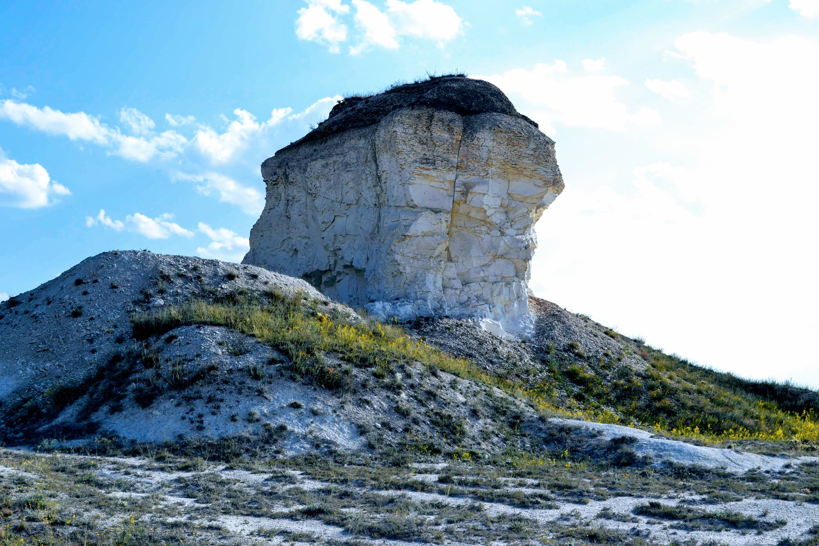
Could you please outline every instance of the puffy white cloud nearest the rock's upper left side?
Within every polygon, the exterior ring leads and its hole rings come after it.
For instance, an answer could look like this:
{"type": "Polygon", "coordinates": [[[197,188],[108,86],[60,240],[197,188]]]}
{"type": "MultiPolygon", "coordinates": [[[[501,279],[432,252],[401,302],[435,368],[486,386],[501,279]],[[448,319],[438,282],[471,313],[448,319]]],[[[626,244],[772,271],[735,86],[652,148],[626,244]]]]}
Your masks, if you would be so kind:
{"type": "Polygon", "coordinates": [[[259,123],[256,121],[256,116],[249,111],[237,108],[233,111],[237,119],[229,123],[224,133],[219,134],[209,126],[203,125],[197,130],[193,143],[196,144],[202,155],[210,158],[210,162],[229,162],[238,151],[247,145],[252,136],[261,130],[278,125],[290,112],[290,108],[275,109],[270,112],[268,121],[259,123]]]}

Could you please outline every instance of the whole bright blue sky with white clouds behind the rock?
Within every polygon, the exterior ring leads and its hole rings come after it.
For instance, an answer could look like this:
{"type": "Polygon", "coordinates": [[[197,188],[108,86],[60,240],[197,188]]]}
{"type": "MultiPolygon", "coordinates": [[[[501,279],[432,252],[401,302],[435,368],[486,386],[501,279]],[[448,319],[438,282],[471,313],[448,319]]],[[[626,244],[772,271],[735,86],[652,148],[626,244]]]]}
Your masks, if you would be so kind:
{"type": "Polygon", "coordinates": [[[238,261],[260,162],[458,70],[557,141],[536,295],[819,387],[819,0],[7,0],[0,51],[0,298],[112,248],[238,261]]]}

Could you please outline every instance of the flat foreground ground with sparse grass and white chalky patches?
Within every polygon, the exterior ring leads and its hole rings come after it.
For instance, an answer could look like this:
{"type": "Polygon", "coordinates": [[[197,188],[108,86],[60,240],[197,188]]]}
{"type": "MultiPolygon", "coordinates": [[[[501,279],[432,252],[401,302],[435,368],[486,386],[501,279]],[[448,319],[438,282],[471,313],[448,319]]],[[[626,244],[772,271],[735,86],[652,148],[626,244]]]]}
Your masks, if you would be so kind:
{"type": "Polygon", "coordinates": [[[817,544],[815,462],[735,475],[337,457],[3,449],[0,544],[817,544]]]}

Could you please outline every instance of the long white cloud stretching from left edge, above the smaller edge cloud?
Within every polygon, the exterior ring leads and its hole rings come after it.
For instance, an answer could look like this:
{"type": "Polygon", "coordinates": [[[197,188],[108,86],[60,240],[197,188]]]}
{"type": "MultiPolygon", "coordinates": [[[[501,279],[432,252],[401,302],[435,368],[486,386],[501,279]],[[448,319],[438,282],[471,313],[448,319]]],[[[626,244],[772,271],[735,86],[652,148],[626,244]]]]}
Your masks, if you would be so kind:
{"type": "Polygon", "coordinates": [[[188,139],[174,131],[152,134],[154,122],[135,108],[124,108],[120,111],[120,119],[140,136],[122,134],[119,128],[112,129],[83,111],[66,114],[51,107],[38,108],[11,99],[0,102],[0,119],[28,125],[43,133],[113,148],[111,153],[137,162],[147,162],[153,157],[175,157],[188,143],[188,139]]]}

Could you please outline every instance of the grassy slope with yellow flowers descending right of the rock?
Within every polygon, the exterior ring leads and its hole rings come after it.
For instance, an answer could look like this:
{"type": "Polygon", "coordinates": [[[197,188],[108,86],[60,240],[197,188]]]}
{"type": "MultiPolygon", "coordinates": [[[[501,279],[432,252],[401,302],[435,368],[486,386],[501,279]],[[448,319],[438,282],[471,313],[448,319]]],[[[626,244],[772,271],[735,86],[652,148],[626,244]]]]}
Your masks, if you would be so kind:
{"type": "Polygon", "coordinates": [[[645,369],[582,357],[547,357],[549,379],[529,393],[541,404],[592,421],[650,426],[669,435],[792,441],[815,448],[817,394],[773,381],[744,380],[633,342],[645,369]],[[563,386],[568,395],[555,394],[563,386]]]}

